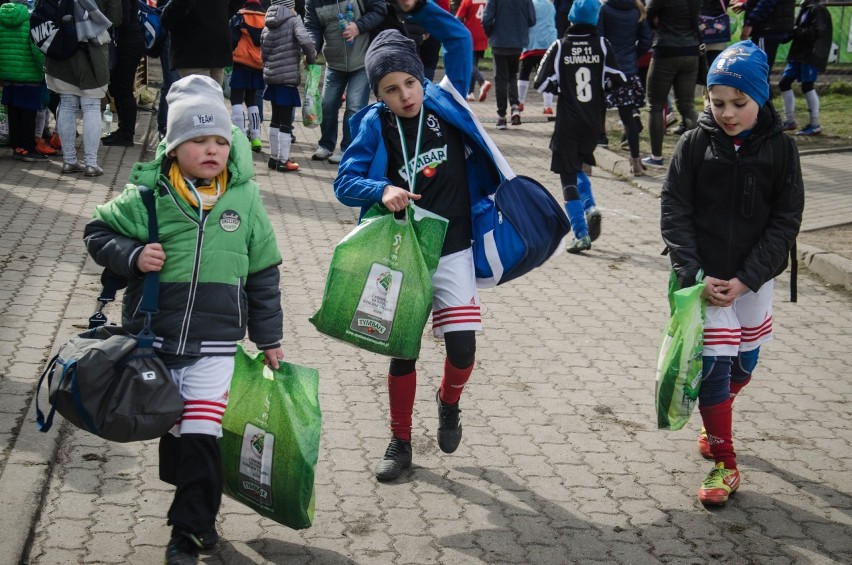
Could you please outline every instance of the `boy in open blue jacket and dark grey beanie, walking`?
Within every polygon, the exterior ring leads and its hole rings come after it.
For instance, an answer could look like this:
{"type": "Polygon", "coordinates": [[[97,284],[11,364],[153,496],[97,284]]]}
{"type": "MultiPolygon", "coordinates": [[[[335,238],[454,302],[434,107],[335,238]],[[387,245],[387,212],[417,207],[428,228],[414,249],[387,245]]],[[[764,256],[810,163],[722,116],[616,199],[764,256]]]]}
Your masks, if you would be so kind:
{"type": "MultiPolygon", "coordinates": [[[[343,154],[334,190],[343,204],[359,206],[362,212],[375,203],[397,212],[413,200],[449,220],[432,278],[432,332],[444,337],[447,348],[437,393],[438,446],[452,453],[462,435],[459,397],[473,371],[475,332],[482,328],[471,205],[493,194],[512,173],[465,102],[473,64],[470,33],[432,1],[399,4],[446,49],[446,77],[440,84],[426,80],[414,42],[399,32],[387,30],[376,36],[365,65],[379,102],[352,118],[350,129],[357,135],[343,154]]],[[[403,359],[390,362],[393,437],[376,467],[379,480],[395,479],[411,466],[415,364],[403,359]]]]}

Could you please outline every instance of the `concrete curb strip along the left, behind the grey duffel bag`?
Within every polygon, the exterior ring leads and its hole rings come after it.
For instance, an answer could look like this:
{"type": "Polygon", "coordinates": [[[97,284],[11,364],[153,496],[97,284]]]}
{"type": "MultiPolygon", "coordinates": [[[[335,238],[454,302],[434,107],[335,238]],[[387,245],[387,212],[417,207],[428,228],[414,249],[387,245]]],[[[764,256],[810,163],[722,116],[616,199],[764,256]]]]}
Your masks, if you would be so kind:
{"type": "MultiPolygon", "coordinates": [[[[144,155],[150,142],[151,124],[155,119],[153,116],[149,112],[139,112],[137,127],[144,128],[145,134],[142,136],[141,152],[136,158],[144,155]],[[143,117],[146,115],[147,123],[143,117]]],[[[79,324],[91,315],[99,292],[91,289],[100,288],[100,270],[91,258],[87,258],[54,336],[51,357],[70,337],[80,333],[79,324]]],[[[39,407],[46,413],[50,409],[47,394],[42,393],[40,398],[39,407]]],[[[0,565],[27,562],[33,530],[41,515],[53,464],[68,426],[61,416],[57,416],[53,428],[47,433],[41,433],[36,429],[35,421],[36,402],[33,394],[0,476],[0,500],[5,504],[5,510],[0,512],[0,532],[3,532],[5,544],[4,553],[0,555],[0,565]]]]}

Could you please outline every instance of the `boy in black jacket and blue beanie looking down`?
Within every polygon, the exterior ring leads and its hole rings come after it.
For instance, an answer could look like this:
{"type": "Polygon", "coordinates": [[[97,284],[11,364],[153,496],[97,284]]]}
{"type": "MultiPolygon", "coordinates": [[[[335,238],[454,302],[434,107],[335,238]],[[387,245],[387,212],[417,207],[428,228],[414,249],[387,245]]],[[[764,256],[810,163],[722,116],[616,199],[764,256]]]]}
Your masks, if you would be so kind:
{"type": "Polygon", "coordinates": [[[719,55],[707,74],[710,107],[675,148],[661,195],[680,286],[706,283],[698,446],[715,466],[698,489],[703,504],[724,504],[740,485],[733,401],[772,339],[773,281],[805,205],[796,144],[769,102],[768,74],[751,41],[719,55]]]}

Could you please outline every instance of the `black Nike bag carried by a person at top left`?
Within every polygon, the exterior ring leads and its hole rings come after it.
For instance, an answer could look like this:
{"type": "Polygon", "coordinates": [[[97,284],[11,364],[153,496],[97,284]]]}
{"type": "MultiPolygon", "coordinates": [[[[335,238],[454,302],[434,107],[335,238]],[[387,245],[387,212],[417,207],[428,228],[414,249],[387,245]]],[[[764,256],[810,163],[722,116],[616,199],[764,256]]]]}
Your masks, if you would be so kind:
{"type": "Polygon", "coordinates": [[[46,57],[70,59],[80,49],[74,26],[74,0],[38,0],[30,14],[30,37],[46,57]]]}

